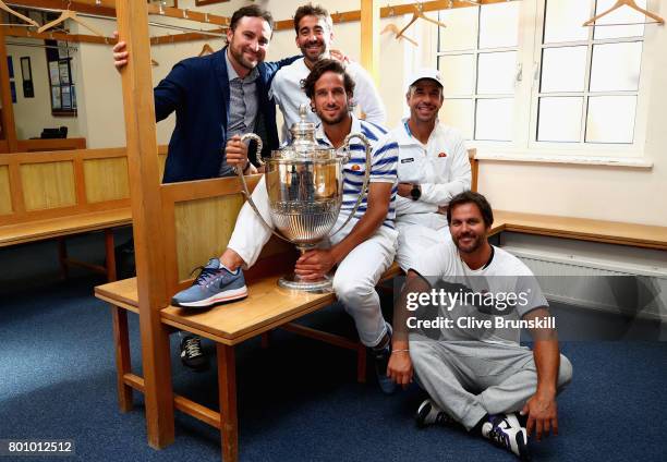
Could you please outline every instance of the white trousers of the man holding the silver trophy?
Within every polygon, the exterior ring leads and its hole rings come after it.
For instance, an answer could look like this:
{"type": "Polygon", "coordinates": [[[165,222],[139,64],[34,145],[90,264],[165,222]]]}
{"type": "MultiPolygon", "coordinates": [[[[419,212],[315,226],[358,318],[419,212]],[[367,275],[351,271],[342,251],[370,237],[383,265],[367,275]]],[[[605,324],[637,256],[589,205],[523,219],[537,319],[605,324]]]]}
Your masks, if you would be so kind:
{"type": "MultiPolygon", "coordinates": [[[[269,214],[269,200],[265,179],[262,178],[252,194],[253,202],[267,223],[275,228],[269,214]]],[[[347,216],[339,216],[333,227],[336,231],[347,216]]],[[[337,244],[352,231],[356,220],[352,219],[345,228],[330,236],[329,243],[337,244]]],[[[363,344],[377,345],[387,333],[380,302],[375,285],[383,272],[393,262],[397,248],[397,231],[380,226],[367,240],[359,244],[338,265],[333,276],[333,291],[345,311],[354,319],[356,331],[363,344]]],[[[246,267],[253,266],[271,233],[245,203],[237,218],[234,231],[228,247],[243,259],[246,267]]]]}

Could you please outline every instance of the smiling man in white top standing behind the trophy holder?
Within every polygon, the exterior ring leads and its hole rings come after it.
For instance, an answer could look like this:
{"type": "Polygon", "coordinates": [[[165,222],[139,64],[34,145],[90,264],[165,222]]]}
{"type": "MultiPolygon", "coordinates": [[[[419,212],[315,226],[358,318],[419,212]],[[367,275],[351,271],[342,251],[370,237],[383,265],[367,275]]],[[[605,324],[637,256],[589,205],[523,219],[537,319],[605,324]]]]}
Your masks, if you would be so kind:
{"type": "MultiPolygon", "coordinates": [[[[283,142],[290,136],[289,129],[300,121],[299,108],[301,105],[311,102],[301,88],[301,82],[307,77],[317,61],[330,57],[333,21],[326,9],[308,3],[296,9],[294,31],[296,32],[296,47],[301,49],[303,58],[283,66],[271,83],[271,95],[284,118],[283,142]]],[[[347,63],[345,72],[354,81],[353,101],[365,114],[364,120],[376,125],[384,125],[387,119],[385,105],[380,100],[371,75],[355,62],[347,63]]],[[[319,122],[315,112],[308,114],[308,122],[319,122]]]]}

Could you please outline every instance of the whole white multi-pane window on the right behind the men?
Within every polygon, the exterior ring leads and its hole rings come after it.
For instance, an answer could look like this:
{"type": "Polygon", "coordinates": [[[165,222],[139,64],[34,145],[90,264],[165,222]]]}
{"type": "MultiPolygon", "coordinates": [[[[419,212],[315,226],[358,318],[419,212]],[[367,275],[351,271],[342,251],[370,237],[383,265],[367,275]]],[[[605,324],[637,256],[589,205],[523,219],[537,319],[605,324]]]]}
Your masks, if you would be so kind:
{"type": "Polygon", "coordinates": [[[614,3],[523,0],[440,11],[448,26],[436,53],[440,119],[477,147],[635,153],[646,20],[623,7],[582,26],[614,3]]]}

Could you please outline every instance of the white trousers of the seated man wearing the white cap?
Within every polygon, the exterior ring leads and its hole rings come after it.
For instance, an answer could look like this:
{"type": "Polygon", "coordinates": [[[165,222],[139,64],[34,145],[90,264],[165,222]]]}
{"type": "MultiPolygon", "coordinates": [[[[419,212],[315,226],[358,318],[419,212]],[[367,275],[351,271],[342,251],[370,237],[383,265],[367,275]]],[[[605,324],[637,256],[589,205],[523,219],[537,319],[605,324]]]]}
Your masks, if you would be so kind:
{"type": "Polygon", "coordinates": [[[441,214],[409,214],[397,217],[399,232],[396,260],[403,271],[416,270],[422,276],[441,273],[441,248],[451,240],[447,216],[441,214]]]}

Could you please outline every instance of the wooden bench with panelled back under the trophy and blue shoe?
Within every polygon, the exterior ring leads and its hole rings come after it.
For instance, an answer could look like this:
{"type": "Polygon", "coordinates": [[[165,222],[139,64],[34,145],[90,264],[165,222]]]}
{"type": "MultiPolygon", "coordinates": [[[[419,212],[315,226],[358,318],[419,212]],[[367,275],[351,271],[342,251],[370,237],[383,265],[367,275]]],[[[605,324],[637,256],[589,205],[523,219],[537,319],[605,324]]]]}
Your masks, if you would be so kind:
{"type": "MultiPolygon", "coordinates": [[[[259,178],[248,177],[248,186],[254,187],[259,178]]],[[[165,279],[168,293],[173,294],[192,283],[190,271],[193,267],[225,250],[244,199],[241,184],[233,178],[168,184],[160,186],[160,191],[166,246],[165,279]]],[[[292,323],[336,301],[332,293],[300,293],[278,287],[278,277],[293,269],[296,255],[293,245],[272,239],[257,264],[245,271],[247,299],[206,311],[165,306],[159,313],[160,324],[216,342],[220,411],[206,409],[178,394],[172,394],[171,399],[173,409],[221,429],[223,453],[232,460],[238,451],[233,349],[239,343],[257,336],[264,336],[263,341],[266,342],[268,331],[283,328],[355,351],[357,380],[365,381],[364,345],[292,323]]],[[[383,278],[389,279],[399,273],[400,268],[395,264],[383,278]]],[[[97,287],[95,294],[112,307],[119,403],[122,411],[128,411],[132,408],[132,390],[144,392],[146,389],[144,378],[131,372],[128,332],[128,311],[141,313],[137,279],[97,287]]],[[[169,345],[166,348],[169,356],[169,345]]],[[[165,376],[159,387],[171,390],[170,375],[165,376]]]]}

